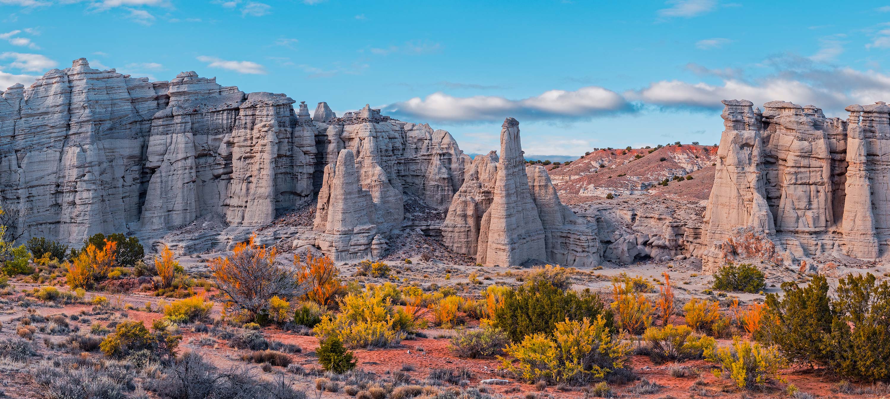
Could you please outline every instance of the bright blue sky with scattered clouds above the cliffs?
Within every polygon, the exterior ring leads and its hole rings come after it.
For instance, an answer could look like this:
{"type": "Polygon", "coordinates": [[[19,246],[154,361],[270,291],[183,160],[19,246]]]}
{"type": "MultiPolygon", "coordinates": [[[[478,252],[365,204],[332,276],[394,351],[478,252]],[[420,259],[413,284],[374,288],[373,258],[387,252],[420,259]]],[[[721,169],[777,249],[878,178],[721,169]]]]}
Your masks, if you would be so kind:
{"type": "Polygon", "coordinates": [[[890,3],[0,0],[0,86],[86,57],[169,80],[195,70],[338,115],[369,103],[526,154],[713,144],[719,100],[890,102],[890,3]]]}

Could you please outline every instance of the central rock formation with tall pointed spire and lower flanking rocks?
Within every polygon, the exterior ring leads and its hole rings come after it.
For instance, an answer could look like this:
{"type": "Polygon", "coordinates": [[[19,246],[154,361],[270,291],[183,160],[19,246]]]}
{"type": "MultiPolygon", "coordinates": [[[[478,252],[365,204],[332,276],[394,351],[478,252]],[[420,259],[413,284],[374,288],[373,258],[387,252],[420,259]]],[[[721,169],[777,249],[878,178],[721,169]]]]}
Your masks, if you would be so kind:
{"type": "Polygon", "coordinates": [[[473,160],[451,201],[442,236],[452,251],[475,255],[486,266],[529,260],[599,263],[595,226],[560,203],[543,168],[525,166],[513,118],[502,125],[500,157],[492,152],[473,160]]]}

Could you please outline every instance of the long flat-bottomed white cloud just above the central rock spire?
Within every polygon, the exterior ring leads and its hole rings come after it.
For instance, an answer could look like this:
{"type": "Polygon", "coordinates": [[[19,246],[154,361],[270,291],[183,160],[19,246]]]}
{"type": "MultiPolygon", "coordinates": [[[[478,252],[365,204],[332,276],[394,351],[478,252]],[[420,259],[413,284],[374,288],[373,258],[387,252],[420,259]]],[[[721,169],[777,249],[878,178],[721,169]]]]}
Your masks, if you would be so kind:
{"type": "Polygon", "coordinates": [[[522,100],[498,96],[452,97],[435,92],[425,99],[416,97],[384,108],[396,115],[452,122],[497,121],[507,116],[575,118],[630,110],[619,93],[598,86],[582,87],[574,92],[551,90],[522,100]]]}

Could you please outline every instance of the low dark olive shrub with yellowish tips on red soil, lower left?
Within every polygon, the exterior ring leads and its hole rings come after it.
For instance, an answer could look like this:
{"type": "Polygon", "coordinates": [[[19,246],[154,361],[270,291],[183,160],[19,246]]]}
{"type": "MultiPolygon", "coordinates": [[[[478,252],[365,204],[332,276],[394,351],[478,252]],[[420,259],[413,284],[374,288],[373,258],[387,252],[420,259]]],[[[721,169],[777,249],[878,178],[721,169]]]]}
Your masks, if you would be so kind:
{"type": "Polygon", "coordinates": [[[165,356],[175,354],[180,339],[181,335],[163,330],[150,332],[142,322],[123,322],[117,324],[115,331],[105,337],[99,347],[105,355],[116,358],[142,350],[165,356]]]}

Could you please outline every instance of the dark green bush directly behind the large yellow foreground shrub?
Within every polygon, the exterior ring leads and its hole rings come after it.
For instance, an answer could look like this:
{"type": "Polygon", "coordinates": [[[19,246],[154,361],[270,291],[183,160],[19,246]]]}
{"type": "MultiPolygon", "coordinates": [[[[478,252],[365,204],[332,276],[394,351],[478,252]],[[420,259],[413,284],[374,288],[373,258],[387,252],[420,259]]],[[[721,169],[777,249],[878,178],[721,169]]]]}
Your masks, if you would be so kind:
{"type": "Polygon", "coordinates": [[[606,311],[600,296],[590,290],[562,291],[538,281],[507,289],[502,294],[503,304],[495,307],[493,321],[514,342],[538,332],[552,334],[556,323],[566,318],[595,319],[597,315],[605,315],[607,326],[611,327],[611,311],[606,311]]]}

